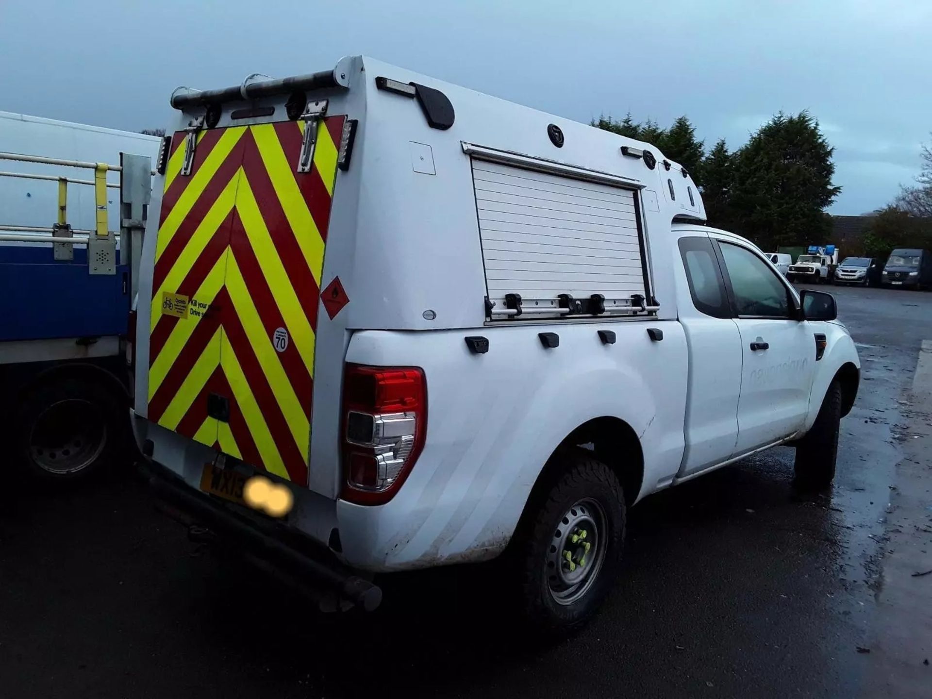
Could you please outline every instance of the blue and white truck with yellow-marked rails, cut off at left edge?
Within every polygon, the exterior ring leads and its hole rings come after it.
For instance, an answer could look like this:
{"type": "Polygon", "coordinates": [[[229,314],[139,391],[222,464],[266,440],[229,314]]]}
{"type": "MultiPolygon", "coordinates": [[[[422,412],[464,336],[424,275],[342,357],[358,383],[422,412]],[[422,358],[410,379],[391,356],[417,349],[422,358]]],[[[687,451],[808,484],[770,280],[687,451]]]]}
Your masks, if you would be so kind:
{"type": "Polygon", "coordinates": [[[70,481],[128,444],[132,261],[160,143],[0,112],[5,467],[70,481]]]}

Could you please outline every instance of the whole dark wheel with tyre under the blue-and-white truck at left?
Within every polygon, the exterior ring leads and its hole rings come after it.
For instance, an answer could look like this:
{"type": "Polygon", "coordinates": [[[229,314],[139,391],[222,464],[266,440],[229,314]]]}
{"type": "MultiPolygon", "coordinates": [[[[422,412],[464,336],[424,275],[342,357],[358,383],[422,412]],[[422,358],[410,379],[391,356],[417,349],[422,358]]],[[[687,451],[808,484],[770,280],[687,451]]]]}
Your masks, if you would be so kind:
{"type": "Polygon", "coordinates": [[[13,434],[28,473],[72,482],[119,459],[127,444],[128,421],[116,391],[103,377],[49,377],[27,393],[13,434]]]}

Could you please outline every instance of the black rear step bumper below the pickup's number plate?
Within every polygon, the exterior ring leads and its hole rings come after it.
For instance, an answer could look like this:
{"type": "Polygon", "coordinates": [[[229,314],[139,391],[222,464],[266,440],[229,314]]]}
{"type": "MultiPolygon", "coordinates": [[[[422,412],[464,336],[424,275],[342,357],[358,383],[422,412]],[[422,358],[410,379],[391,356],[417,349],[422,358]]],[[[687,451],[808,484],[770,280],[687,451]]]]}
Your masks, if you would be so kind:
{"type": "Polygon", "coordinates": [[[176,519],[211,530],[238,554],[256,560],[310,596],[335,597],[367,611],[381,602],[382,592],[376,585],[343,566],[325,547],[299,539],[277,522],[240,516],[155,461],[144,462],[141,469],[158,500],[169,506],[176,519]]]}

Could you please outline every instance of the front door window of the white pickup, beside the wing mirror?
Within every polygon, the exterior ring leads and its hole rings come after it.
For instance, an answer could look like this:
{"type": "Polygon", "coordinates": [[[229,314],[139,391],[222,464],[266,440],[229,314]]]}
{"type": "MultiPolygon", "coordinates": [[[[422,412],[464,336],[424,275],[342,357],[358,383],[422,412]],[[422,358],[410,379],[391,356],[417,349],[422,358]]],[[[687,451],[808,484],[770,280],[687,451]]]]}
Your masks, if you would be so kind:
{"type": "Polygon", "coordinates": [[[720,241],[738,316],[789,318],[789,291],[774,270],[747,248],[720,241]]]}

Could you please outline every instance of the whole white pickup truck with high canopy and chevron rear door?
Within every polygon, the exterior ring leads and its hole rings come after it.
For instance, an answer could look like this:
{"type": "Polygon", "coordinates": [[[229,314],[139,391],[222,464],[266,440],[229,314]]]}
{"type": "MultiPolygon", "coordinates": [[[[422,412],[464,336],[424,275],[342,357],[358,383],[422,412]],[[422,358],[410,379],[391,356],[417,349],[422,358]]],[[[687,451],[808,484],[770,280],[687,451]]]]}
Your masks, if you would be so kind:
{"type": "Polygon", "coordinates": [[[704,226],[651,144],[363,57],[172,105],[137,438],[159,497],[315,594],[505,555],[565,631],[637,500],[791,441],[831,481],[859,372],[834,300],[704,226]]]}

